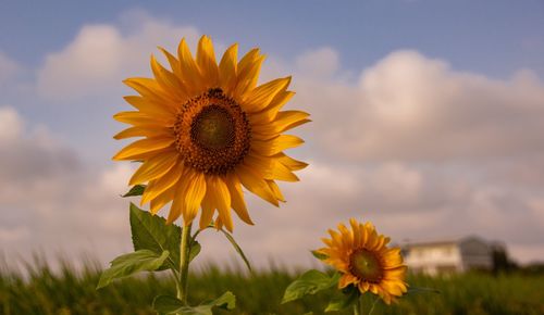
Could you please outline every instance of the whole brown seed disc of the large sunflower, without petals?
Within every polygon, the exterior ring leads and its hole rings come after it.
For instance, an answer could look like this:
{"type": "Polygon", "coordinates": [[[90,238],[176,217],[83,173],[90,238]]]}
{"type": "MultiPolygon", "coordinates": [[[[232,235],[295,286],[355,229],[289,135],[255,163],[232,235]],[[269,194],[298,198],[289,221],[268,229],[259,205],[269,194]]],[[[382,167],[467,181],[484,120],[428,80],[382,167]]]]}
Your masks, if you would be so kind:
{"type": "Polygon", "coordinates": [[[251,129],[246,113],[219,88],[183,104],[173,129],[184,164],[205,174],[231,172],[249,151],[251,129]]]}

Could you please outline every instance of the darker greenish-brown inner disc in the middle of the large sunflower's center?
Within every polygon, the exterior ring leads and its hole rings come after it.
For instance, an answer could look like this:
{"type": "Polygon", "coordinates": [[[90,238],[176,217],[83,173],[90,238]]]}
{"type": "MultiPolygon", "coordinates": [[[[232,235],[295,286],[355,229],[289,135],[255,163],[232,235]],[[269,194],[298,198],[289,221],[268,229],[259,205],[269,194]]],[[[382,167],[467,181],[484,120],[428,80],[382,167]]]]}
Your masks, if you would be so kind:
{"type": "Polygon", "coordinates": [[[190,137],[205,149],[219,150],[234,142],[234,122],[228,112],[215,104],[206,106],[190,126],[190,137]]]}

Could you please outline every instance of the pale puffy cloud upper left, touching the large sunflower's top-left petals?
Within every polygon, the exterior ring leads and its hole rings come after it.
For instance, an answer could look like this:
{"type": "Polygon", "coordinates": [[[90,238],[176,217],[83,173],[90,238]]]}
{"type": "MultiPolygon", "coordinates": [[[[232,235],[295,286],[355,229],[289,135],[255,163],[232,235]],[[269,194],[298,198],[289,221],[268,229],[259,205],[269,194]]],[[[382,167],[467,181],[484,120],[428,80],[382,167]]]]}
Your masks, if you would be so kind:
{"type": "MultiPolygon", "coordinates": [[[[149,76],[149,55],[159,58],[160,43],[172,50],[182,37],[194,47],[198,30],[132,14],[131,27],[85,25],[64,49],[47,55],[38,71],[38,92],[57,101],[104,96],[120,90],[121,81],[131,76],[149,76]]],[[[129,20],[129,18],[127,18],[129,20]]]]}

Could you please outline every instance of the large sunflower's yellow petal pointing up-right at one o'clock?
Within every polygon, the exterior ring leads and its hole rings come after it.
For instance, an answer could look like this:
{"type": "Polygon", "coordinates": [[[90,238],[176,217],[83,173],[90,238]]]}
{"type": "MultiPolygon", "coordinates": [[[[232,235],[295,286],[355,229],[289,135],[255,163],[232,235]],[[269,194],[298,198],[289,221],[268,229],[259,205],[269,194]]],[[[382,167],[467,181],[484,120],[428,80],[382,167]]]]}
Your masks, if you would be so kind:
{"type": "Polygon", "coordinates": [[[234,98],[236,100],[244,99],[244,94],[255,88],[263,61],[264,55],[261,55],[257,48],[250,50],[242,58],[237,68],[237,84],[234,89],[234,98]]]}

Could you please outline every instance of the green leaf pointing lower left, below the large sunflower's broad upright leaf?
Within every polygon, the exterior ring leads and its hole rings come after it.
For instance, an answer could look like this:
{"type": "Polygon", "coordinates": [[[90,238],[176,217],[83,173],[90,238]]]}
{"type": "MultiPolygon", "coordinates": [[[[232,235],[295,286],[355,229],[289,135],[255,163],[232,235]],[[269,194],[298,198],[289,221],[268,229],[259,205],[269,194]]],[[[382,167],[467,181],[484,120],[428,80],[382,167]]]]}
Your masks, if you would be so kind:
{"type": "Polygon", "coordinates": [[[149,250],[140,250],[134,253],[121,255],[111,262],[110,268],[102,272],[97,289],[110,285],[113,279],[128,277],[144,270],[157,270],[164,263],[168,256],[169,251],[163,251],[159,255],[149,250]]]}

